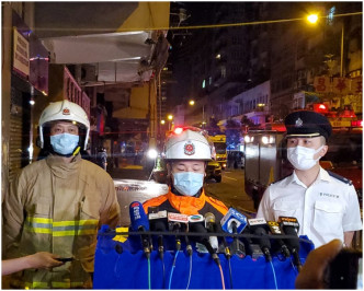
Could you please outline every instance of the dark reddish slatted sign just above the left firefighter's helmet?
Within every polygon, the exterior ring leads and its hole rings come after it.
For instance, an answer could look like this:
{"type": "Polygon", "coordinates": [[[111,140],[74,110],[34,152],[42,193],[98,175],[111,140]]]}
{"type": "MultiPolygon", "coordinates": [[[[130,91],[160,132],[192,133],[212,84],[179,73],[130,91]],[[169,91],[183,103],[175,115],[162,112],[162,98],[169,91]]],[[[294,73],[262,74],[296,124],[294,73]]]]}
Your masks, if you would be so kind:
{"type": "Polygon", "coordinates": [[[65,67],[64,71],[64,96],[65,98],[80,105],[90,118],[90,98],[81,90],[79,84],[73,79],[72,74],[65,67]]]}

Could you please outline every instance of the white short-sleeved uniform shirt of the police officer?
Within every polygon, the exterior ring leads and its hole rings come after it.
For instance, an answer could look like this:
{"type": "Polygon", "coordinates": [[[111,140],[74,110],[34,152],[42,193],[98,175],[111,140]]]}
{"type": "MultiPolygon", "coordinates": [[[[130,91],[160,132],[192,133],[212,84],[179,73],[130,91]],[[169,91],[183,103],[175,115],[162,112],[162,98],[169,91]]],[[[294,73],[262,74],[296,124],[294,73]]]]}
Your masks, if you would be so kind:
{"type": "Polygon", "coordinates": [[[278,217],[296,218],[298,235],[307,235],[315,247],[333,238],[344,242],[344,232],[362,229],[354,186],[330,176],[323,168],[309,187],[294,172],[266,188],[257,218],[277,221],[278,217]]]}

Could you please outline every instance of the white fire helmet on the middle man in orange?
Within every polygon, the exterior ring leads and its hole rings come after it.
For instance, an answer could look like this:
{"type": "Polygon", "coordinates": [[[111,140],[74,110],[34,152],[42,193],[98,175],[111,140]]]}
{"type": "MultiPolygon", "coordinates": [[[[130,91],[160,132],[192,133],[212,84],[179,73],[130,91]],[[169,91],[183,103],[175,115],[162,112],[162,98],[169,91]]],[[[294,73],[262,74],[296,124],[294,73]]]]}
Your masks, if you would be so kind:
{"type": "Polygon", "coordinates": [[[177,127],[167,138],[164,159],[211,161],[215,159],[215,148],[205,131],[195,127],[177,127]]]}

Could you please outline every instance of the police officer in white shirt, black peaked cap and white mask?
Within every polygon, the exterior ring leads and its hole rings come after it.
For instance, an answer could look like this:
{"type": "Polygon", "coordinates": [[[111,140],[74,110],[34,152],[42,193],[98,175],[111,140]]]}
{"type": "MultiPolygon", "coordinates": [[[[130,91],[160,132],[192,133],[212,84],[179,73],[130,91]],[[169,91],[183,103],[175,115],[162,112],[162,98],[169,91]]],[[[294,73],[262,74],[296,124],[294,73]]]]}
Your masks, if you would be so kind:
{"type": "Polygon", "coordinates": [[[329,120],[315,112],[298,110],[286,116],[285,126],[287,159],[294,172],[266,188],[257,217],[296,218],[298,234],[307,235],[316,247],[334,238],[350,246],[354,232],[362,229],[356,191],[350,181],[319,164],[328,151],[329,120]]]}

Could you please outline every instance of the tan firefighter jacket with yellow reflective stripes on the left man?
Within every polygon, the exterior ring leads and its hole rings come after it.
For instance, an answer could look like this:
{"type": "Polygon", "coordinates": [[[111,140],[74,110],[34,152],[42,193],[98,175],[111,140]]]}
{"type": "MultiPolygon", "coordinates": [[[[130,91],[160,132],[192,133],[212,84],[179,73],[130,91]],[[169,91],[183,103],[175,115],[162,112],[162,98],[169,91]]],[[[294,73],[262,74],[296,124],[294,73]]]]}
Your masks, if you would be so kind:
{"type": "Polygon", "coordinates": [[[2,211],[3,258],[41,251],[75,257],[52,270],[24,270],[21,288],[91,288],[98,229],[120,223],[111,176],[80,155],[69,164],[49,155],[24,167],[2,211]]]}

